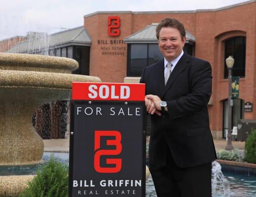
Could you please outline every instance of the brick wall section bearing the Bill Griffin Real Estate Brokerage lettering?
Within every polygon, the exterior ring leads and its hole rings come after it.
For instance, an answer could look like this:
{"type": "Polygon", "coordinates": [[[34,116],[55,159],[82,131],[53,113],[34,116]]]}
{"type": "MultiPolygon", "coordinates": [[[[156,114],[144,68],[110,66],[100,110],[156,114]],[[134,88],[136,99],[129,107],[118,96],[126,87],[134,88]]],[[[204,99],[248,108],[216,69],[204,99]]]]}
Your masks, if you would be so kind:
{"type": "Polygon", "coordinates": [[[85,28],[91,36],[90,75],[98,76],[103,82],[123,82],[127,72],[127,44],[111,44],[112,40],[123,40],[131,32],[131,14],[98,14],[85,18],[85,28]],[[108,16],[119,16],[121,33],[117,37],[108,35],[108,16]],[[98,40],[107,44],[98,44],[98,40]],[[104,47],[104,49],[102,49],[104,47]],[[123,47],[121,50],[113,47],[123,47]],[[121,52],[123,55],[103,55],[104,52],[121,52]]]}

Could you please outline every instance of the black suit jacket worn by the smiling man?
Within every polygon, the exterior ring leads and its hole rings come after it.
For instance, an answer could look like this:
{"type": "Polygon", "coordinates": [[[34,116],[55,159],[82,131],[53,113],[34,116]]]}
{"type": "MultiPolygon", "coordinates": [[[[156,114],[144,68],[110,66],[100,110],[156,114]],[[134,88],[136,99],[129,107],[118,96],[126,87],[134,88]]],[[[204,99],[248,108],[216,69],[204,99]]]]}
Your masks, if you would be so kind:
{"type": "Polygon", "coordinates": [[[167,101],[169,111],[151,116],[150,165],[164,166],[168,148],[179,167],[211,163],[216,159],[207,110],[211,65],[184,52],[166,86],[164,81],[164,60],[143,69],[146,95],[167,101]]]}

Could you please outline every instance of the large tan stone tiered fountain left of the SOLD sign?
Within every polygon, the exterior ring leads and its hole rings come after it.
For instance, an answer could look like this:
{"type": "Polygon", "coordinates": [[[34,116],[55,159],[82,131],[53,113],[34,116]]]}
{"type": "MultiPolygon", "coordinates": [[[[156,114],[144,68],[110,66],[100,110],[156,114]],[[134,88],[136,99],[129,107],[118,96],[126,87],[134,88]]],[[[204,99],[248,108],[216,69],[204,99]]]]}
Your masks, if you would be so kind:
{"type": "Polygon", "coordinates": [[[0,165],[41,162],[43,139],[32,127],[34,112],[43,103],[70,99],[73,81],[100,82],[71,74],[77,68],[69,58],[0,53],[0,165]]]}

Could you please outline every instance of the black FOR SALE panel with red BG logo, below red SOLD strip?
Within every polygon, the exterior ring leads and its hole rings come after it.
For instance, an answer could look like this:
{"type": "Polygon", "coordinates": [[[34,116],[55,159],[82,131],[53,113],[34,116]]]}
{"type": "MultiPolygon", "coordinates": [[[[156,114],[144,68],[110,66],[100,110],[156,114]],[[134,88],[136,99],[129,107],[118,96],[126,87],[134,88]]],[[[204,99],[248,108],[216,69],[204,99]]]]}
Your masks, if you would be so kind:
{"type": "Polygon", "coordinates": [[[73,101],[70,197],[145,196],[143,107],[144,102],[73,101]]]}

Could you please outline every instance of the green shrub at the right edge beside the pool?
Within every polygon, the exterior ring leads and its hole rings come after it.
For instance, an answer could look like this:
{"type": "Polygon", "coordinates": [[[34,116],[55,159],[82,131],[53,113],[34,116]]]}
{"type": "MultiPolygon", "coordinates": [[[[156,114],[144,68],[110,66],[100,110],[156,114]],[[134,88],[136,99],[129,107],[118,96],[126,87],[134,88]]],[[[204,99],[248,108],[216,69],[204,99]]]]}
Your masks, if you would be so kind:
{"type": "Polygon", "coordinates": [[[256,130],[252,130],[245,142],[245,161],[256,164],[256,130]]]}

